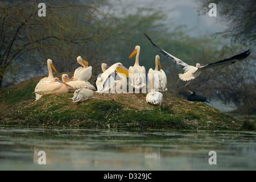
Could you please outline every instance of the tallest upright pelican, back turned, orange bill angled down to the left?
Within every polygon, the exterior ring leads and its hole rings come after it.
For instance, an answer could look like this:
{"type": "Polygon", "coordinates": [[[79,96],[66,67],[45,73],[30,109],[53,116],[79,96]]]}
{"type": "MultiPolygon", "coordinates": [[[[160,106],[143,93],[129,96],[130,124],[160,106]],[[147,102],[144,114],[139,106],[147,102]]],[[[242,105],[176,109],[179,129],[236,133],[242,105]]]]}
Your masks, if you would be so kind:
{"type": "Polygon", "coordinates": [[[133,52],[131,52],[129,58],[134,57],[135,58],[135,64],[133,67],[129,67],[129,74],[132,74],[131,78],[131,86],[135,89],[142,89],[143,86],[145,86],[144,81],[146,78],[146,69],[143,66],[139,65],[139,51],[141,50],[141,47],[135,46],[135,49],[133,52]]]}

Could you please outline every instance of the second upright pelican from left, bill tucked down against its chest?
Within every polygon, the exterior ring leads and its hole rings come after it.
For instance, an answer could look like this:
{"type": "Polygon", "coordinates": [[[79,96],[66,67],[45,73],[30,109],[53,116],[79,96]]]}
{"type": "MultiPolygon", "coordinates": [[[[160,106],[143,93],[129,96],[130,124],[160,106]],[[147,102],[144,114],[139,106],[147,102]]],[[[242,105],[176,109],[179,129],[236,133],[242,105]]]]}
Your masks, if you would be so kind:
{"type": "Polygon", "coordinates": [[[78,56],[76,60],[82,67],[75,70],[74,76],[77,77],[77,80],[88,81],[92,76],[92,67],[88,67],[88,61],[82,59],[81,56],[78,56]]]}

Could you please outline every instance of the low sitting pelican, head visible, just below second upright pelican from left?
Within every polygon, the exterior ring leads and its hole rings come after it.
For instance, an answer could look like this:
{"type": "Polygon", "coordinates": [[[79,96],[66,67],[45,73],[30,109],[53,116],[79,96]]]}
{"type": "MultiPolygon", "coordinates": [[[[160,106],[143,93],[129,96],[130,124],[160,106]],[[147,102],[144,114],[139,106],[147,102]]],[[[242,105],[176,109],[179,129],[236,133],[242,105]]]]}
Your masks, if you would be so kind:
{"type": "Polygon", "coordinates": [[[95,89],[94,86],[92,84],[90,84],[89,81],[81,81],[81,80],[77,80],[77,77],[73,76],[72,78],[69,78],[67,74],[63,74],[61,76],[61,79],[63,82],[68,83],[69,85],[71,85],[71,87],[69,87],[69,91],[68,92],[75,92],[76,89],[81,89],[84,88],[85,86],[88,89],[95,89]]]}

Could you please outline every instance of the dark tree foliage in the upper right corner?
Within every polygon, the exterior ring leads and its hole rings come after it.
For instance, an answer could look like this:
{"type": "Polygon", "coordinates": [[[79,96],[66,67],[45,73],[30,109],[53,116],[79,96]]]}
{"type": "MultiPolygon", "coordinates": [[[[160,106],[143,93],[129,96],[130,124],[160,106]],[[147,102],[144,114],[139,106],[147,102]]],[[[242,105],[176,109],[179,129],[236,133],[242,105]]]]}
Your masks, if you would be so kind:
{"type": "Polygon", "coordinates": [[[200,15],[208,14],[209,3],[216,3],[217,16],[228,28],[219,34],[244,45],[256,45],[255,0],[199,0],[200,15]]]}

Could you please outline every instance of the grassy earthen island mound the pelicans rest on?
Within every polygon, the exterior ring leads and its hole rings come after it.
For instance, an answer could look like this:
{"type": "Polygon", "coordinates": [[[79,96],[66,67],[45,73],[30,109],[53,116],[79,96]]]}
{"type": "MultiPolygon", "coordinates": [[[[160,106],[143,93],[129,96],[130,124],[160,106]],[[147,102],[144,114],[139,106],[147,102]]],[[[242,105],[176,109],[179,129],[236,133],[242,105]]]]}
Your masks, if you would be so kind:
{"type": "MultiPolygon", "coordinates": [[[[59,73],[60,74],[60,73],[59,73]]],[[[72,73],[69,73],[72,75],[72,73]]],[[[58,76],[58,75],[57,75],[58,76]]],[[[61,75],[59,75],[61,77],[61,75]]],[[[243,130],[243,122],[202,102],[164,93],[162,106],[146,103],[146,94],[94,91],[93,98],[73,103],[73,93],[46,95],[34,101],[42,77],[2,88],[0,125],[84,127],[90,129],[243,130]]],[[[92,82],[91,80],[89,80],[92,82]]]]}

